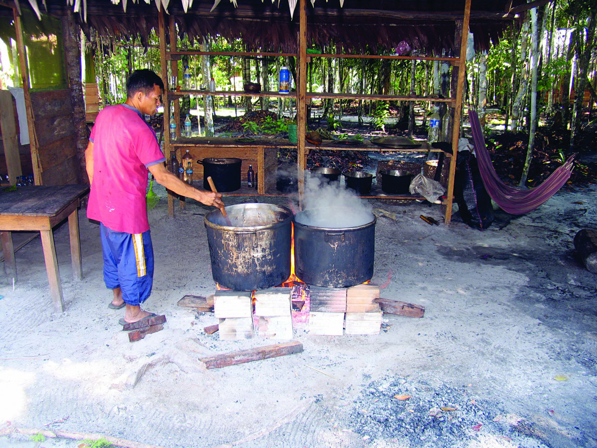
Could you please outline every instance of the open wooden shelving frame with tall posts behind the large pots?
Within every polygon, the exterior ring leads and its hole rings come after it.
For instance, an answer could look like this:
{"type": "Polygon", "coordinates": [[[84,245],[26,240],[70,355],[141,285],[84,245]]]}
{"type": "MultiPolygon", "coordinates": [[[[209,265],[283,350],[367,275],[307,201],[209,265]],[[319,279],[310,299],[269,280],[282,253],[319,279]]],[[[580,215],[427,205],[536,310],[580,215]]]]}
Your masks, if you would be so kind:
{"type": "MultiPolygon", "coordinates": [[[[420,56],[420,55],[413,55],[413,56],[376,56],[376,55],[364,55],[364,54],[313,54],[313,53],[306,53],[307,48],[307,17],[306,17],[306,0],[299,0],[298,2],[298,53],[252,53],[252,52],[216,52],[216,51],[181,51],[177,49],[177,42],[176,42],[176,27],[174,22],[174,17],[170,16],[170,20],[168,23],[169,31],[170,31],[170,49],[167,49],[166,41],[165,41],[165,14],[164,11],[161,10],[159,13],[158,18],[158,27],[159,27],[159,42],[160,42],[160,50],[161,50],[161,75],[162,79],[168,79],[168,70],[167,65],[168,62],[170,63],[171,73],[173,75],[178,76],[178,65],[177,61],[181,59],[184,55],[193,55],[193,56],[201,56],[201,55],[210,55],[210,56],[273,56],[273,57],[281,57],[281,56],[292,56],[297,57],[297,93],[296,93],[296,100],[297,100],[297,154],[298,154],[298,194],[301,198],[304,193],[304,170],[306,170],[306,161],[307,161],[307,154],[309,154],[309,149],[312,146],[308,146],[305,143],[305,129],[306,129],[306,105],[312,99],[364,99],[364,100],[402,100],[402,101],[426,101],[426,102],[433,102],[433,103],[445,103],[448,106],[448,111],[451,115],[451,142],[453,148],[453,155],[447,155],[447,160],[450,161],[450,170],[448,174],[448,189],[447,189],[447,200],[445,201],[445,223],[450,223],[451,220],[451,210],[453,204],[453,194],[454,194],[454,174],[456,173],[456,155],[457,155],[457,142],[458,136],[460,133],[460,117],[461,117],[461,109],[462,109],[462,99],[463,99],[463,85],[464,85],[464,61],[466,57],[466,41],[467,41],[467,32],[466,30],[469,29],[469,20],[470,20],[470,3],[471,0],[465,0],[464,2],[464,11],[461,17],[458,17],[456,21],[456,36],[454,38],[454,42],[458,42],[460,44],[460,48],[457,49],[459,55],[458,57],[432,57],[432,56],[420,56]],[[464,30],[464,32],[463,32],[464,30]],[[424,61],[441,61],[441,62],[448,62],[453,67],[452,75],[451,75],[451,88],[450,88],[450,97],[449,98],[439,98],[433,96],[402,96],[402,95],[376,95],[376,94],[348,94],[348,93],[310,93],[307,92],[307,57],[322,57],[322,58],[358,58],[358,59],[390,59],[390,60],[424,60],[424,61]]],[[[170,119],[170,112],[171,112],[171,104],[174,105],[174,118],[176,119],[177,123],[180,123],[179,117],[179,105],[177,101],[173,101],[178,99],[186,94],[193,94],[198,96],[250,96],[250,97],[288,97],[288,94],[280,94],[278,92],[260,92],[260,93],[246,93],[246,92],[238,92],[238,91],[216,91],[216,92],[208,92],[208,91],[201,91],[201,90],[179,90],[179,91],[171,91],[170,86],[167,87],[166,91],[164,92],[164,152],[165,155],[168,157],[170,155],[171,148],[177,147],[196,147],[201,143],[198,142],[180,142],[177,140],[176,143],[173,143],[170,139],[170,130],[168,127],[168,121],[170,119]]],[[[178,130],[178,128],[177,128],[178,130]]],[[[179,130],[178,130],[179,131],[179,130]]],[[[217,145],[218,141],[216,138],[211,139],[213,141],[214,147],[217,145]]],[[[230,149],[234,149],[235,146],[238,146],[237,149],[242,151],[245,146],[242,145],[232,145],[230,149]]],[[[253,145],[256,146],[256,145],[253,145]]],[[[253,146],[251,149],[254,149],[253,146]]],[[[273,145],[275,146],[275,145],[273,145]]],[[[286,146],[290,147],[290,146],[286,146]]],[[[292,145],[294,147],[294,145],[292,145]]],[[[258,146],[263,150],[264,145],[258,146]]],[[[350,151],[359,151],[359,147],[345,147],[337,148],[335,146],[320,146],[322,149],[336,149],[336,150],[350,150],[350,151]]],[[[246,149],[246,148],[245,148],[246,149]]],[[[371,148],[373,149],[373,148],[371,148]]],[[[361,149],[364,150],[364,149],[361,149]]],[[[369,149],[370,150],[370,149],[369,149]]],[[[258,150],[259,151],[259,150],[258,150]]],[[[381,151],[378,149],[378,151],[381,151]]],[[[404,150],[398,150],[404,151],[404,150]]],[[[414,151],[429,151],[429,147],[425,146],[422,149],[411,149],[406,150],[408,152],[414,151]]],[[[432,151],[438,151],[432,149],[432,151]]],[[[263,151],[262,151],[263,152],[263,151]]],[[[261,183],[261,189],[259,193],[261,195],[265,195],[265,191],[262,190],[264,188],[265,174],[264,165],[258,167],[258,185],[261,183]]],[[[405,197],[397,197],[397,198],[405,198],[405,197]]],[[[174,213],[174,206],[173,206],[173,197],[168,195],[168,213],[172,215],[174,213]]]]}

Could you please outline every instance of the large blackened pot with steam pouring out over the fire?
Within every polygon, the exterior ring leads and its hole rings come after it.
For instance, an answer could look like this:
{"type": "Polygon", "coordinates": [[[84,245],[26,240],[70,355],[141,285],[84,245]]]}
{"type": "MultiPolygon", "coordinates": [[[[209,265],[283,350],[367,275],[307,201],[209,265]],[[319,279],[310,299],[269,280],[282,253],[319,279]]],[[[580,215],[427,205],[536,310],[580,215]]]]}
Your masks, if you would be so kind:
{"type": "Polygon", "coordinates": [[[349,207],[298,212],[294,222],[294,270],[307,284],[341,288],[373,277],[375,224],[370,211],[349,207]]]}

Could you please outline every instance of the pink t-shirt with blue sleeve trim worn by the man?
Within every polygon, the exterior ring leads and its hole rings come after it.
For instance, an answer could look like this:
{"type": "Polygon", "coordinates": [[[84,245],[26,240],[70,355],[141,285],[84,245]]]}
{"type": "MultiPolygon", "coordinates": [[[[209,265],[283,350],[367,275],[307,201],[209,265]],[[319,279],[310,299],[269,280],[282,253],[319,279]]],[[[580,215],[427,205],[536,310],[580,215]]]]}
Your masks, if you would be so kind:
{"type": "Polygon", "coordinates": [[[149,230],[145,192],[147,167],[166,159],[155,132],[137,109],[120,104],[97,115],[93,142],[93,184],[87,217],[117,232],[149,230]]]}

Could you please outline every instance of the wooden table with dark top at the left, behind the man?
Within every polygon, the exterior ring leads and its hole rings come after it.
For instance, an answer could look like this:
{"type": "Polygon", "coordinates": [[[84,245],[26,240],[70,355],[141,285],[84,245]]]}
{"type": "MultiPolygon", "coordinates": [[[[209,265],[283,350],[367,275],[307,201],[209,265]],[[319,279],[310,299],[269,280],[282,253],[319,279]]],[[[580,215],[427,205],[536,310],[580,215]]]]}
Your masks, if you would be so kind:
{"type": "Polygon", "coordinates": [[[81,240],[77,208],[81,197],[88,191],[87,185],[24,186],[18,187],[17,191],[0,191],[0,239],[4,252],[4,270],[9,278],[17,281],[11,231],[39,231],[52,302],[56,311],[60,312],[64,311],[64,299],[52,228],[64,219],[69,219],[73,277],[75,280],[81,280],[81,240]]]}

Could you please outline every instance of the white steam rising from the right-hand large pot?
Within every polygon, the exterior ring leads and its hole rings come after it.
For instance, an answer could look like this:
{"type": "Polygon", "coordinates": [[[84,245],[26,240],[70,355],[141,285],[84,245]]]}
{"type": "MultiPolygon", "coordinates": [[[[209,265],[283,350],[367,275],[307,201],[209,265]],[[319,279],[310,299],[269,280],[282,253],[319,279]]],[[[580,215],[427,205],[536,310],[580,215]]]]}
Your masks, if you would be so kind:
{"type": "Polygon", "coordinates": [[[349,228],[370,223],[371,207],[352,189],[344,188],[339,181],[314,173],[306,173],[304,211],[297,214],[301,224],[323,228],[349,228]],[[310,174],[309,177],[307,177],[310,174]]]}

